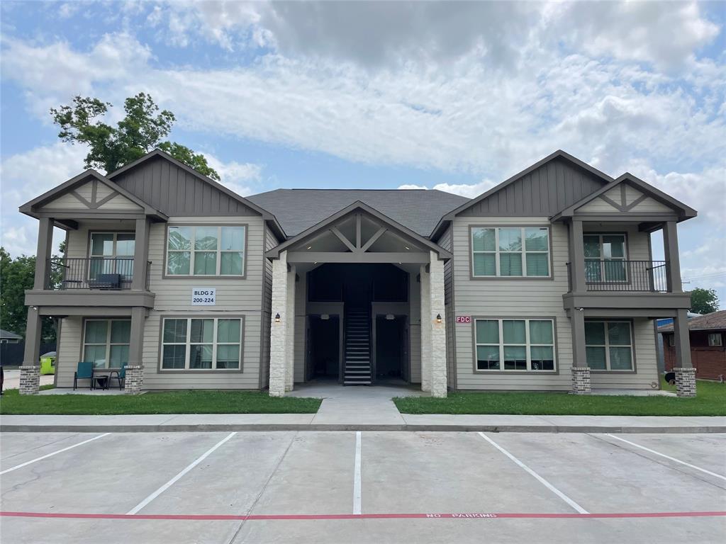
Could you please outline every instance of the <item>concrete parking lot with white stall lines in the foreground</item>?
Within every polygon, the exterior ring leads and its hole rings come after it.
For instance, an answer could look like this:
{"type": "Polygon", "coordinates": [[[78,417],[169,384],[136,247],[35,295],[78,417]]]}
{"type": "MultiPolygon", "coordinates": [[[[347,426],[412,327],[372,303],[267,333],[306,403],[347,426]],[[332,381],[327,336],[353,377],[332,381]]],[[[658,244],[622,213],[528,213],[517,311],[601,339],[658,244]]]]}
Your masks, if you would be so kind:
{"type": "Polygon", "coordinates": [[[0,474],[12,543],[726,539],[723,434],[9,433],[0,474]]]}

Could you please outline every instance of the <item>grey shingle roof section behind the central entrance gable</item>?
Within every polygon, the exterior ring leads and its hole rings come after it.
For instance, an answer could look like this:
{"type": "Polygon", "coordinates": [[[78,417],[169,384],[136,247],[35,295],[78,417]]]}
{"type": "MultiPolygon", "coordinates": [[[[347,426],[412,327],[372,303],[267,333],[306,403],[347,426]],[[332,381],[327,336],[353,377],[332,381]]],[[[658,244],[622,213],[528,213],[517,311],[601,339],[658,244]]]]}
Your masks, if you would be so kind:
{"type": "Polygon", "coordinates": [[[300,234],[360,200],[421,236],[468,198],[435,189],[276,189],[247,197],[280,221],[287,236],[300,234]]]}

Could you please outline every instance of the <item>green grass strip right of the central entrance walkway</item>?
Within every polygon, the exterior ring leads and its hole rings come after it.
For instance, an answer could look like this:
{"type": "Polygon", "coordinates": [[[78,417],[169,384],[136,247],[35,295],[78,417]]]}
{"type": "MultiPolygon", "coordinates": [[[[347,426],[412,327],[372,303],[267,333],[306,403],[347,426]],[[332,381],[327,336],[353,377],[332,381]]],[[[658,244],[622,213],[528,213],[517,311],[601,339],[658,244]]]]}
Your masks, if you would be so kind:
{"type": "MultiPolygon", "coordinates": [[[[675,386],[664,384],[664,389],[675,386]]],[[[463,392],[445,399],[397,397],[401,413],[497,413],[528,416],[726,416],[726,384],[699,380],[696,398],[463,392]]]]}

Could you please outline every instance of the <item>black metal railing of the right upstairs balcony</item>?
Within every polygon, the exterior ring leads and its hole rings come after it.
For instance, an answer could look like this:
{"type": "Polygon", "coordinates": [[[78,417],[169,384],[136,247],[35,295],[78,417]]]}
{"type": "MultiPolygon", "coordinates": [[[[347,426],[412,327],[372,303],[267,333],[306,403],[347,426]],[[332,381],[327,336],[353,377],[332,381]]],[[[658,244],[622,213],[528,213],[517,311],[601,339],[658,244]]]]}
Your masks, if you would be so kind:
{"type": "MultiPolygon", "coordinates": [[[[587,291],[669,292],[669,263],[664,260],[585,259],[587,291]]],[[[572,291],[572,267],[567,263],[567,280],[572,291]]]]}

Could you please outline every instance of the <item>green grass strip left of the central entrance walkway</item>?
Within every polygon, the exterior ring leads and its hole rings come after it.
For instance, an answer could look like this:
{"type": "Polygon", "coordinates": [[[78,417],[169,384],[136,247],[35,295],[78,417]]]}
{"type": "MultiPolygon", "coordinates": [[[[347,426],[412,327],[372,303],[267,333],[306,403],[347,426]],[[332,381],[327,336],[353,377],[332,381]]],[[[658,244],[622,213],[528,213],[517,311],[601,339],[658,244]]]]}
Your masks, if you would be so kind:
{"type": "MultiPolygon", "coordinates": [[[[49,389],[44,386],[41,389],[49,389]]],[[[322,400],[256,391],[174,391],[144,395],[23,395],[7,390],[0,414],[316,413],[322,400]]]]}

